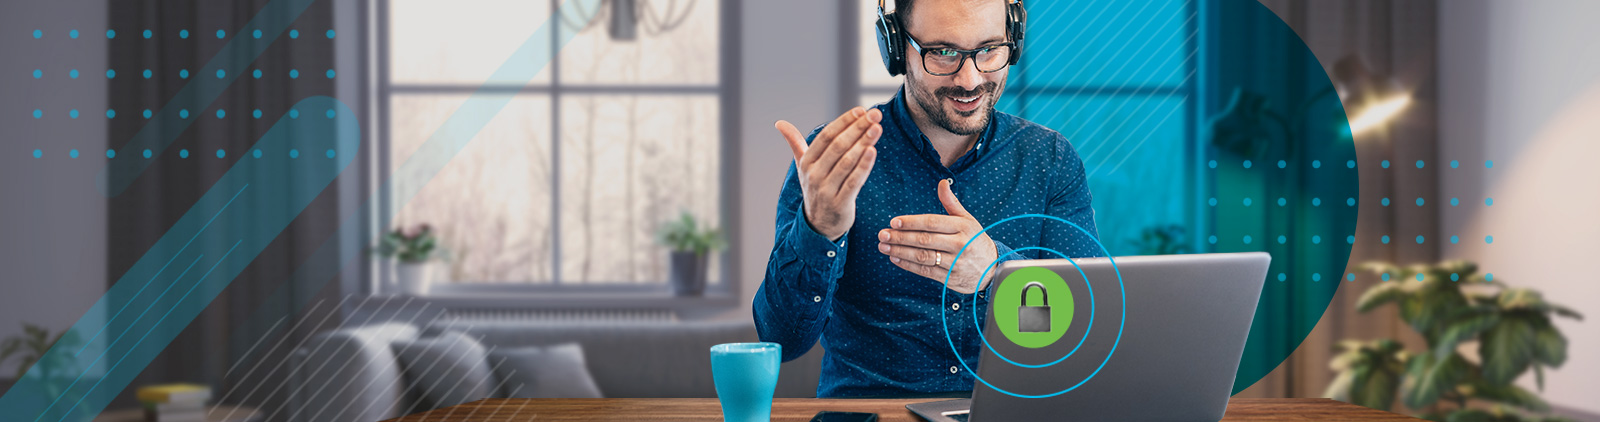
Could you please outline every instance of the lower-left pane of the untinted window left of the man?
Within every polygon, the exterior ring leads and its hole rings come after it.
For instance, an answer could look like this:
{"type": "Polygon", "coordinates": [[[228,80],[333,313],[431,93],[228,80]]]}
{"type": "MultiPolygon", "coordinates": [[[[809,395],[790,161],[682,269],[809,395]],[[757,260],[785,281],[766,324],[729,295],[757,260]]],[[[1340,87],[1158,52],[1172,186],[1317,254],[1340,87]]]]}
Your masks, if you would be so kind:
{"type": "MultiPolygon", "coordinates": [[[[467,96],[394,96],[389,166],[392,192],[416,197],[397,225],[430,224],[448,249],[450,281],[549,283],[550,99],[517,96],[432,179],[403,163],[467,96]]],[[[398,200],[398,198],[397,198],[398,200]]],[[[442,275],[435,275],[443,278],[442,275]]]]}

